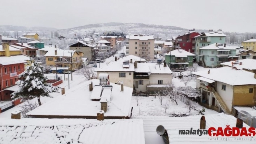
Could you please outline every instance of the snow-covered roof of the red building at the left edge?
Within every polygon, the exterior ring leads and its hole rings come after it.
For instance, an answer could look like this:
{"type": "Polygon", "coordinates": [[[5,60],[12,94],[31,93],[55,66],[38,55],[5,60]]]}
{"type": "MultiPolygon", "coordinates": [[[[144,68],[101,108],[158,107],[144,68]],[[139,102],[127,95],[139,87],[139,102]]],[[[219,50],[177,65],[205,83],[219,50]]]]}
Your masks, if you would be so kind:
{"type": "MultiPolygon", "coordinates": [[[[9,56],[9,57],[0,57],[0,64],[1,65],[12,65],[12,64],[21,64],[27,63],[31,57],[26,55],[16,55],[16,56],[9,56]]],[[[32,58],[33,59],[33,58],[32,58]]]]}

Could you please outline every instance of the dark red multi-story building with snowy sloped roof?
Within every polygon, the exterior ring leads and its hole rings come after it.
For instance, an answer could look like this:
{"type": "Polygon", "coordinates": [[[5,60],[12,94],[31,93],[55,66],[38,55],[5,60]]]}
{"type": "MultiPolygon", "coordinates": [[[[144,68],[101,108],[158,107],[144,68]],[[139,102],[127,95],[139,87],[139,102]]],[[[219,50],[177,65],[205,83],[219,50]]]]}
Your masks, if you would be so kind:
{"type": "Polygon", "coordinates": [[[187,52],[193,53],[195,51],[195,42],[193,42],[193,37],[200,35],[198,32],[188,32],[182,36],[178,36],[175,39],[174,46],[179,46],[187,52]]]}

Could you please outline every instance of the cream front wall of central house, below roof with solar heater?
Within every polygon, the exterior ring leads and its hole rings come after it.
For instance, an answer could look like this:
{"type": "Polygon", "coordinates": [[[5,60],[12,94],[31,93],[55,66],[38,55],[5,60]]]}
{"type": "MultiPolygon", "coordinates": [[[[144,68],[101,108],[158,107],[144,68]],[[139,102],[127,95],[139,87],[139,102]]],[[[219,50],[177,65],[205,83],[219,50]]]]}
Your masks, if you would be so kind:
{"type": "Polygon", "coordinates": [[[123,81],[124,86],[133,88],[133,72],[119,72],[119,71],[97,71],[97,78],[99,74],[107,73],[111,83],[117,83],[118,81],[123,81]],[[119,78],[119,73],[125,73],[125,77],[119,78]],[[131,75],[129,75],[131,73],[131,75]]]}

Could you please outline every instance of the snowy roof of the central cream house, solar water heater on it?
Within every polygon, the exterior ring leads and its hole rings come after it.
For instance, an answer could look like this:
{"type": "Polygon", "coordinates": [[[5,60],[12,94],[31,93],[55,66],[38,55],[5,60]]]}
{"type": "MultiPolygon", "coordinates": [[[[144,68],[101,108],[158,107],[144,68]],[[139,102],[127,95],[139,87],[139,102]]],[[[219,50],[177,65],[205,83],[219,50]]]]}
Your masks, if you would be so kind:
{"type": "Polygon", "coordinates": [[[94,68],[94,71],[134,71],[134,64],[129,63],[129,68],[123,67],[124,59],[120,58],[117,61],[111,62],[101,68],[94,68]]]}

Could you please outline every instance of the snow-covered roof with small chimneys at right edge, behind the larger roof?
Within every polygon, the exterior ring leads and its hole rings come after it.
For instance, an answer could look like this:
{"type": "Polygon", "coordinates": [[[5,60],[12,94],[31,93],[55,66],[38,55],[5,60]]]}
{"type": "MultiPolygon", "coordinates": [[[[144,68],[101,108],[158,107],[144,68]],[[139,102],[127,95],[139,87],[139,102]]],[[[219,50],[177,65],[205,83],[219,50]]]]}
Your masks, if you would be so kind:
{"type": "Polygon", "coordinates": [[[234,64],[233,67],[236,67],[236,69],[256,70],[256,60],[249,59],[249,58],[246,58],[243,60],[237,60],[237,61],[223,62],[220,65],[232,67],[232,62],[234,64]],[[242,65],[239,65],[240,62],[242,62],[242,65]]]}

